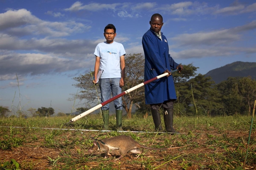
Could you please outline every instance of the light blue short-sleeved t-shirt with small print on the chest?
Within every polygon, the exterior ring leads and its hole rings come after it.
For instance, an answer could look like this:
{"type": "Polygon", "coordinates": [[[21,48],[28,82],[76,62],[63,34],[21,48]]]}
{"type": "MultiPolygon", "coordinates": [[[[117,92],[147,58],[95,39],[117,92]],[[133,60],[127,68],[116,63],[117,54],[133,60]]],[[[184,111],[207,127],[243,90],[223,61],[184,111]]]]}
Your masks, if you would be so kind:
{"type": "Polygon", "coordinates": [[[120,57],[125,54],[125,48],[121,43],[99,43],[94,55],[100,57],[99,70],[104,70],[101,78],[121,78],[120,57]]]}

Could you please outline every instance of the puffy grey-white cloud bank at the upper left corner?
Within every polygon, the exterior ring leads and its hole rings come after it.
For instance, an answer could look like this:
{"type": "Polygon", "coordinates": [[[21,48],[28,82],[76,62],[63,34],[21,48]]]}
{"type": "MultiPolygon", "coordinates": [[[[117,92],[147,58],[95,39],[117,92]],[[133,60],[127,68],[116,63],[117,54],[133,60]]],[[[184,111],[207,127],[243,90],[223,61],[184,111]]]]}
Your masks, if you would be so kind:
{"type": "Polygon", "coordinates": [[[53,37],[68,36],[72,33],[84,32],[91,26],[75,21],[49,22],[32,15],[26,9],[7,11],[0,14],[0,30],[14,36],[46,35],[53,37]]]}

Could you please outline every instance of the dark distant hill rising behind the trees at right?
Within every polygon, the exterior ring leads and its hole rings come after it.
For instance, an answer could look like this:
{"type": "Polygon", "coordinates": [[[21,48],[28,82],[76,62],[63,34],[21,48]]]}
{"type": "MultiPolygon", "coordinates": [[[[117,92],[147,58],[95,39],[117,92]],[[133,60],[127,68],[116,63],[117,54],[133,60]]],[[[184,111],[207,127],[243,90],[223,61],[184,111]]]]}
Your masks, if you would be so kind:
{"type": "Polygon", "coordinates": [[[228,77],[251,76],[256,80],[256,62],[233,62],[206,73],[206,77],[212,77],[216,84],[227,80],[228,77]]]}

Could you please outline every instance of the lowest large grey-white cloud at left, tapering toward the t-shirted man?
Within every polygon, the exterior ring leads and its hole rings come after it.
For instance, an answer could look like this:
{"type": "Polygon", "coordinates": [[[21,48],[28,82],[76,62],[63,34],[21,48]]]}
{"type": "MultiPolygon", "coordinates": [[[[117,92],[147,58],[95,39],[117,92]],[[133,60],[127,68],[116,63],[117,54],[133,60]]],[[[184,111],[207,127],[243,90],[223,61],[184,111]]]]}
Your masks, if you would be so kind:
{"type": "Polygon", "coordinates": [[[23,75],[55,74],[81,69],[89,64],[85,60],[68,59],[50,54],[12,53],[0,55],[0,80],[14,78],[15,73],[19,77],[23,75]]]}

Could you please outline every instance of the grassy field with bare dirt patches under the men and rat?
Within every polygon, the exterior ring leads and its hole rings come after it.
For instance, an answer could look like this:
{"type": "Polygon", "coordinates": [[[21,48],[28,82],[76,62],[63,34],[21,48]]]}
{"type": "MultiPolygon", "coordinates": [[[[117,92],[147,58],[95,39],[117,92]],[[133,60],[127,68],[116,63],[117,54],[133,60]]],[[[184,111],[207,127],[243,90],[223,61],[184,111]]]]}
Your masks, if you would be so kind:
{"type": "MultiPolygon", "coordinates": [[[[99,115],[87,115],[65,125],[73,117],[0,118],[0,167],[22,170],[234,170],[242,169],[246,156],[251,117],[175,117],[180,134],[156,134],[151,116],[134,115],[123,119],[123,129],[114,131],[116,120],[110,117],[113,131],[100,130],[99,115]],[[139,132],[132,132],[139,131],[139,132]],[[104,152],[89,153],[93,139],[130,135],[148,147],[177,147],[171,150],[147,150],[128,153],[121,159],[119,151],[104,159],[104,152]]],[[[245,169],[256,169],[256,123],[253,123],[245,169]]],[[[2,169],[2,168],[0,168],[2,169]]]]}

